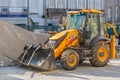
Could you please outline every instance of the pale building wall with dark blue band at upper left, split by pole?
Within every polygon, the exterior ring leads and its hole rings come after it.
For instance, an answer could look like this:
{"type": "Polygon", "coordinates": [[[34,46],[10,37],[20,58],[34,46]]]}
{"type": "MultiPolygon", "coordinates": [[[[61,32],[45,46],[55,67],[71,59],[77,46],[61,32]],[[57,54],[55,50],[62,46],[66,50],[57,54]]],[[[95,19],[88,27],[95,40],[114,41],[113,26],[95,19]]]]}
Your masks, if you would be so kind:
{"type": "MultiPolygon", "coordinates": [[[[0,0],[0,2],[0,19],[13,24],[27,23],[28,0],[0,0]]],[[[43,15],[43,0],[29,0],[29,7],[31,16],[39,18],[38,15],[43,15]]]]}

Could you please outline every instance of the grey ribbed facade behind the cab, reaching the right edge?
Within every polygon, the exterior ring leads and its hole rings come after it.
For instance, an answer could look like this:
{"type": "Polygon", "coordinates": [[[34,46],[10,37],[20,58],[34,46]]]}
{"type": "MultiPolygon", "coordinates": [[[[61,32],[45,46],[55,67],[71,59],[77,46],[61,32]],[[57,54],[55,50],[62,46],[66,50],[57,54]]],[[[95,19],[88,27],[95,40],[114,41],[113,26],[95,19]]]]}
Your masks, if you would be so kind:
{"type": "Polygon", "coordinates": [[[120,24],[120,0],[44,0],[44,3],[50,18],[63,15],[67,10],[98,9],[104,12],[107,22],[120,24]]]}

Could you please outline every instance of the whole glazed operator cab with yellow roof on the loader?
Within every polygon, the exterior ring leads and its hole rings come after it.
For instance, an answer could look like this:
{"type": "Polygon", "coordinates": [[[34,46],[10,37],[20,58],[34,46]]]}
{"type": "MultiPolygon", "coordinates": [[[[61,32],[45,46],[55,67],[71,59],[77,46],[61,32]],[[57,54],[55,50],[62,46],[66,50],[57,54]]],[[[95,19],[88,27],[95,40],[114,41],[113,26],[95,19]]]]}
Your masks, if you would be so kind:
{"type": "Polygon", "coordinates": [[[96,36],[104,36],[103,21],[103,13],[98,10],[71,11],[67,16],[67,29],[78,29],[80,44],[87,47],[96,36]]]}

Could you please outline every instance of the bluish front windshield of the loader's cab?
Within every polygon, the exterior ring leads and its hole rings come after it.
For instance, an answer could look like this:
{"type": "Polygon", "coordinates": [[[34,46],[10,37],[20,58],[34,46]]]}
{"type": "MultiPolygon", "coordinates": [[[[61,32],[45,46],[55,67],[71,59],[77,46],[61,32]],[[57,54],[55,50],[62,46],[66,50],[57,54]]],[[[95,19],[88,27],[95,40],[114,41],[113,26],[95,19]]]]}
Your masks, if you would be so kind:
{"type": "Polygon", "coordinates": [[[79,30],[81,27],[84,27],[84,22],[85,22],[85,14],[83,13],[68,15],[67,28],[79,30]]]}

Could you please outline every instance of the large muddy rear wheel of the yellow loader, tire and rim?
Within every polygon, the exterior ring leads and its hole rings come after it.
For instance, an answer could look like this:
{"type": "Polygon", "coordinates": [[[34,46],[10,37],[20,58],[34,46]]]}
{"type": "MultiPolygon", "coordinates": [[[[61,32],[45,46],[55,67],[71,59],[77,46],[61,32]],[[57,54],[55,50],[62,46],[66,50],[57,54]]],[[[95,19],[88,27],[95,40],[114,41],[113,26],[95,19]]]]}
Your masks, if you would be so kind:
{"type": "Polygon", "coordinates": [[[92,58],[90,62],[95,67],[104,67],[110,59],[109,45],[105,41],[99,41],[92,48],[92,58]],[[103,51],[100,51],[103,50],[103,51]]]}

